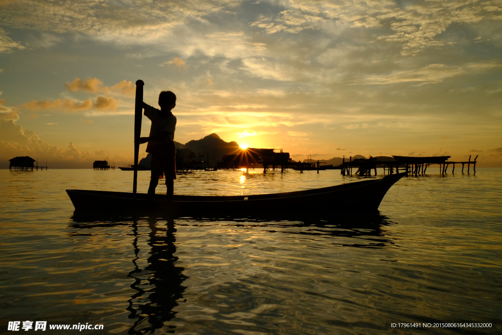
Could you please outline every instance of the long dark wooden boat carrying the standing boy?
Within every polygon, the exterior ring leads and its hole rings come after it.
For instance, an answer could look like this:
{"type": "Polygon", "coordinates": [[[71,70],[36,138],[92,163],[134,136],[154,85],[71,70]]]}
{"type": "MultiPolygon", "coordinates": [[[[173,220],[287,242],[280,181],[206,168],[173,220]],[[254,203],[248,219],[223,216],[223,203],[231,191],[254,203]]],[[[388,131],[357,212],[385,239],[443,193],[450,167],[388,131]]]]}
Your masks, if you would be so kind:
{"type": "Polygon", "coordinates": [[[194,215],[195,213],[298,213],[309,211],[317,214],[334,213],[336,210],[357,209],[376,211],[385,194],[406,173],[387,175],[381,179],[371,179],[342,185],[323,187],[305,191],[231,195],[199,196],[174,195],[170,200],[166,195],[156,194],[148,199],[147,194],[66,190],[77,211],[117,212],[138,211],[163,212],[173,215],[194,215]]]}

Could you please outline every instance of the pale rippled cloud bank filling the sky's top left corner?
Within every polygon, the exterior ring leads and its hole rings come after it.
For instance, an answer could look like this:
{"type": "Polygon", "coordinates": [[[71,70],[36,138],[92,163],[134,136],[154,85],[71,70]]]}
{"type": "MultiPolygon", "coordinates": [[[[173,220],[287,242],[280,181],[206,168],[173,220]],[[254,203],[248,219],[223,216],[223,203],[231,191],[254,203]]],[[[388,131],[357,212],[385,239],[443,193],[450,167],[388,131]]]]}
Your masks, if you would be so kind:
{"type": "Polygon", "coordinates": [[[203,21],[240,0],[156,2],[81,2],[24,0],[2,6],[0,22],[17,29],[56,33],[81,33],[103,40],[131,39],[148,43],[168,35],[189,20],[203,21]]]}

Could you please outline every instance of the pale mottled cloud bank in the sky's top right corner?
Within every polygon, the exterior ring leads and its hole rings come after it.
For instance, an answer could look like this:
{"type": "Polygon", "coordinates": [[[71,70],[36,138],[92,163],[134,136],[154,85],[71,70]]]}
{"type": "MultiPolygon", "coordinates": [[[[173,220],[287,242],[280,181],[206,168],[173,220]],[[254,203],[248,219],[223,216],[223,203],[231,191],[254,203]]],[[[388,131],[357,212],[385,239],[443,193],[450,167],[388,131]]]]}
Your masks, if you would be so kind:
{"type": "MultiPolygon", "coordinates": [[[[403,56],[416,55],[428,47],[447,45],[447,41],[436,40],[436,37],[452,25],[502,19],[498,1],[453,0],[397,4],[388,0],[341,0],[333,4],[327,1],[307,3],[284,0],[282,4],[289,8],[288,13],[296,12],[295,16],[311,15],[322,19],[322,22],[335,21],[350,28],[380,29],[377,32],[381,35],[376,41],[400,45],[403,56]],[[384,33],[389,30],[394,31],[394,34],[384,33]]],[[[277,24],[284,24],[282,13],[273,20],[277,24]]],[[[274,23],[261,28],[270,33],[274,23]]]]}

